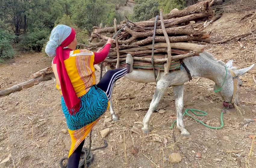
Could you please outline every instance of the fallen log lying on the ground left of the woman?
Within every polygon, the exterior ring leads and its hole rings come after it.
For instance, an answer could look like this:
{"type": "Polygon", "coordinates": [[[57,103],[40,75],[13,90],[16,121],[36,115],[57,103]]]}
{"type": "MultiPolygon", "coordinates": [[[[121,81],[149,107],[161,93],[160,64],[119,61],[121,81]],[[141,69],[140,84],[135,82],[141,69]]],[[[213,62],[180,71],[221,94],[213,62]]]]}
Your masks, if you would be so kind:
{"type": "Polygon", "coordinates": [[[22,82],[18,85],[14,85],[10,88],[1,90],[0,91],[0,97],[9,95],[9,94],[11,94],[13,92],[16,92],[16,91],[21,91],[22,89],[25,89],[25,88],[30,88],[33,85],[37,85],[42,81],[46,81],[46,80],[50,80],[50,79],[52,79],[52,75],[43,75],[43,76],[40,76],[40,77],[37,77],[37,78],[34,78],[34,79],[30,79],[27,82],[22,82]]]}

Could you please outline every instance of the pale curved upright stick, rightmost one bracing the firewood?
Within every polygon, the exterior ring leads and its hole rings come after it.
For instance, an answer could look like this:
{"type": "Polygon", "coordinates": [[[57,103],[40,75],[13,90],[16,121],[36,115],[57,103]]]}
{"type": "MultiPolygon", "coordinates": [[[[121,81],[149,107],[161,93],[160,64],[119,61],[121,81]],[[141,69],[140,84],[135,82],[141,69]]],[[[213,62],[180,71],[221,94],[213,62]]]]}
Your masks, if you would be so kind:
{"type": "Polygon", "coordinates": [[[166,44],[167,44],[167,63],[164,66],[164,74],[167,75],[169,73],[170,64],[171,64],[171,61],[172,61],[172,54],[171,54],[170,40],[168,38],[168,34],[167,34],[167,32],[165,30],[165,27],[164,27],[164,18],[163,18],[163,10],[162,9],[160,9],[160,21],[161,21],[161,27],[162,27],[162,30],[163,30],[163,33],[164,33],[164,38],[165,38],[165,41],[166,41],[166,44]]]}

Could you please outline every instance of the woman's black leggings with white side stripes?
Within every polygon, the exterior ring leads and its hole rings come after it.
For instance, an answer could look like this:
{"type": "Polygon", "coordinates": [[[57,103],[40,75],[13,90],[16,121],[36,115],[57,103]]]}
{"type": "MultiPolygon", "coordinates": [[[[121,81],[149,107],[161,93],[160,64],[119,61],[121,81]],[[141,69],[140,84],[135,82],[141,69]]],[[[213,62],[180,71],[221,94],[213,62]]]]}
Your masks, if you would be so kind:
{"type": "MultiPolygon", "coordinates": [[[[105,91],[106,94],[108,95],[108,99],[110,99],[114,83],[117,81],[117,79],[120,79],[121,77],[123,77],[127,72],[128,72],[127,67],[108,70],[96,86],[98,88],[101,88],[101,90],[105,91]]],[[[84,144],[84,140],[76,148],[76,150],[72,153],[72,155],[70,155],[67,161],[67,168],[78,167],[80,156],[83,149],[83,144],[84,144]]]]}

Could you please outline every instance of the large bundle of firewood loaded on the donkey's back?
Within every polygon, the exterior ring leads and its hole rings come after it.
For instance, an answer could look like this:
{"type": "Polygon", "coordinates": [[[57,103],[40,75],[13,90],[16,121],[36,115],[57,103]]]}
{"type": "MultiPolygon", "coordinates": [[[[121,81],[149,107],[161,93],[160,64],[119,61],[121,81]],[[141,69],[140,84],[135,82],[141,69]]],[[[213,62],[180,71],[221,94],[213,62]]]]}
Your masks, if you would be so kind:
{"type": "Polygon", "coordinates": [[[116,63],[119,54],[120,60],[118,60],[124,61],[123,57],[128,53],[133,55],[136,61],[151,62],[152,47],[154,47],[154,57],[158,58],[155,61],[166,62],[168,43],[172,60],[198,55],[197,52],[203,51],[204,47],[192,42],[210,40],[210,35],[203,30],[205,20],[214,13],[209,3],[203,1],[183,10],[174,9],[163,15],[162,20],[152,18],[147,21],[132,22],[126,18],[127,20],[120,25],[115,24],[115,27],[94,27],[89,39],[90,46],[87,48],[93,50],[102,47],[108,38],[118,34],[105,62],[116,63]],[[152,45],[152,41],[156,43],[152,45]]]}

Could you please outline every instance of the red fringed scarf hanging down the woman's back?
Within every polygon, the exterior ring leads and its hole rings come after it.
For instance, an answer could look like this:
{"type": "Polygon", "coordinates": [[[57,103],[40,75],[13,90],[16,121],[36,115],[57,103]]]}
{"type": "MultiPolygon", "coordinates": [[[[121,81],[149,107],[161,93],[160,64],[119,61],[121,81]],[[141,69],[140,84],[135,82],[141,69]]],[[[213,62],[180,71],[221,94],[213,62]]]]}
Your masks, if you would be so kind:
{"type": "Polygon", "coordinates": [[[76,112],[79,111],[81,104],[80,99],[76,96],[76,92],[73,88],[73,85],[67,74],[67,70],[65,68],[63,59],[63,48],[68,46],[74,40],[75,37],[76,32],[73,28],[71,28],[70,35],[56,49],[56,64],[58,77],[61,84],[61,92],[70,115],[76,115],[76,112]]]}

